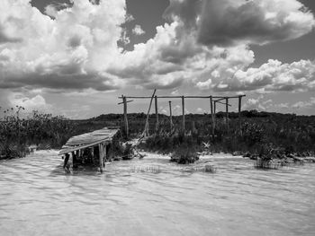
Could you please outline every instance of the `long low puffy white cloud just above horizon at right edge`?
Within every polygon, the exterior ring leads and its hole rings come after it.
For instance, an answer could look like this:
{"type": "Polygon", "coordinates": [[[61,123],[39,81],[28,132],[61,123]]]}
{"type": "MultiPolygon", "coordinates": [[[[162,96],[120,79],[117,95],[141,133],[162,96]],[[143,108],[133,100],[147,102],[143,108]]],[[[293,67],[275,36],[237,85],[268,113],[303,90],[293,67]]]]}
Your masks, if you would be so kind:
{"type": "MultiPolygon", "coordinates": [[[[224,67],[223,67],[224,68],[224,67]]],[[[285,64],[278,60],[269,59],[258,68],[246,67],[220,71],[220,76],[210,76],[209,79],[197,86],[217,92],[230,91],[264,91],[264,92],[306,92],[315,89],[315,62],[301,60],[285,64]]]]}

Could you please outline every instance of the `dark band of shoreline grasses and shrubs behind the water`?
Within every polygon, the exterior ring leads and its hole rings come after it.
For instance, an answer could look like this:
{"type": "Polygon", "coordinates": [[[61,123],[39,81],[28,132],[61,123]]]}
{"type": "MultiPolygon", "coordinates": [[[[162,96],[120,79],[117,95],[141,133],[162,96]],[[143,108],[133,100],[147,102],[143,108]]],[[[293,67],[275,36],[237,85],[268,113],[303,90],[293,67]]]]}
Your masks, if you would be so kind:
{"type": "MultiPolygon", "coordinates": [[[[30,115],[22,107],[2,110],[0,121],[0,158],[23,157],[30,146],[38,149],[61,148],[73,135],[80,135],[103,127],[121,127],[123,139],[123,115],[106,114],[84,120],[71,120],[51,114],[32,111],[30,115]]],[[[129,139],[139,137],[146,123],[144,113],[128,115],[129,139]]],[[[148,136],[137,145],[138,149],[167,153],[172,161],[191,163],[202,153],[232,153],[257,160],[257,168],[278,168],[295,162],[313,162],[315,156],[315,116],[297,116],[244,110],[239,131],[238,114],[229,112],[229,130],[226,116],[216,114],[215,135],[211,135],[209,114],[187,114],[185,132],[181,130],[181,117],[169,118],[159,114],[159,126],[155,115],[148,117],[148,136]]]]}

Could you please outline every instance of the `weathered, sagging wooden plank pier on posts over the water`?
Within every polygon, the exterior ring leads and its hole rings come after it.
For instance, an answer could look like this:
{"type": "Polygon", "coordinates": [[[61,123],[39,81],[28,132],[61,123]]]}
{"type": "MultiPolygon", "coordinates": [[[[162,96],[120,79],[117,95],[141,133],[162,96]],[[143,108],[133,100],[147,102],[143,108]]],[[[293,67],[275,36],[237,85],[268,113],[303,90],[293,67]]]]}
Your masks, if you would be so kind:
{"type": "Polygon", "coordinates": [[[78,159],[85,160],[85,158],[89,158],[93,162],[94,157],[96,157],[100,171],[103,172],[107,153],[112,146],[112,140],[118,135],[119,131],[119,127],[104,127],[90,133],[71,137],[59,152],[59,155],[65,155],[64,168],[67,166],[70,155],[74,166],[78,159]]]}

